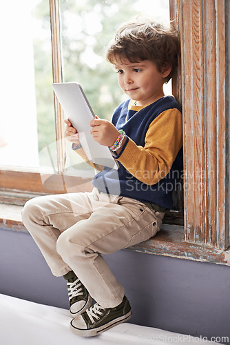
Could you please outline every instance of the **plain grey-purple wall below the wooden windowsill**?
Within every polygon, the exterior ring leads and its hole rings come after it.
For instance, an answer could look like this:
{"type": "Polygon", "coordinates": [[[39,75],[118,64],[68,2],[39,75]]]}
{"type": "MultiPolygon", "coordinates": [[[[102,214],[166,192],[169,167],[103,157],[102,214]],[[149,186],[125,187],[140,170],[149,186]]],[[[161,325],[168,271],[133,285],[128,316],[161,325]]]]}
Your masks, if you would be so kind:
{"type": "MultiPolygon", "coordinates": [[[[132,305],[129,322],[199,337],[229,337],[230,267],[121,250],[106,256],[132,305]]],[[[0,293],[67,308],[28,233],[0,230],[0,293]]]]}

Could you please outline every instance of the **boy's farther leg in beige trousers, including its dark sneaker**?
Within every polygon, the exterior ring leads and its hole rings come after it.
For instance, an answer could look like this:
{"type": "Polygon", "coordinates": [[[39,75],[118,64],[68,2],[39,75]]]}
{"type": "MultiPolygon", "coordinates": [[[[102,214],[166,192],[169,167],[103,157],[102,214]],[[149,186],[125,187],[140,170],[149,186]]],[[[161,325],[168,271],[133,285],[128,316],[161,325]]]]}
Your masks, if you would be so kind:
{"type": "Polygon", "coordinates": [[[100,206],[96,194],[72,193],[37,197],[25,204],[23,223],[39,246],[41,253],[56,276],[64,275],[69,292],[69,308],[73,317],[93,304],[93,299],[72,268],[56,251],[60,234],[77,221],[87,219],[92,209],[100,206]]]}

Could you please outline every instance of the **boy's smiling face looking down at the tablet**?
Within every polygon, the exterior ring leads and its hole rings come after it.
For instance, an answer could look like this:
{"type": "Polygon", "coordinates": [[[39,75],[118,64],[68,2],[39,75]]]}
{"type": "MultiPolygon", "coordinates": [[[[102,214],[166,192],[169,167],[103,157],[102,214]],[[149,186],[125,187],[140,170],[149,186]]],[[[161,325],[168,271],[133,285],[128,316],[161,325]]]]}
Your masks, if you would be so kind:
{"type": "Polygon", "coordinates": [[[115,68],[119,86],[126,95],[137,101],[137,106],[147,106],[164,96],[163,83],[170,68],[159,72],[156,64],[150,60],[130,62],[119,58],[115,68]]]}

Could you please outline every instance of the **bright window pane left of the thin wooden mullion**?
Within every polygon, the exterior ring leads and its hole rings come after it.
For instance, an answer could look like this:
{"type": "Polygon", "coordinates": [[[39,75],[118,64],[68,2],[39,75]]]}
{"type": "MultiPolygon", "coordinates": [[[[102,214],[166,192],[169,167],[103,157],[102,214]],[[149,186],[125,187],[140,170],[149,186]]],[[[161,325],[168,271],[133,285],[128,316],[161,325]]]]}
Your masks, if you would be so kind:
{"type": "Polygon", "coordinates": [[[49,1],[1,1],[0,165],[39,166],[55,141],[49,1]]]}

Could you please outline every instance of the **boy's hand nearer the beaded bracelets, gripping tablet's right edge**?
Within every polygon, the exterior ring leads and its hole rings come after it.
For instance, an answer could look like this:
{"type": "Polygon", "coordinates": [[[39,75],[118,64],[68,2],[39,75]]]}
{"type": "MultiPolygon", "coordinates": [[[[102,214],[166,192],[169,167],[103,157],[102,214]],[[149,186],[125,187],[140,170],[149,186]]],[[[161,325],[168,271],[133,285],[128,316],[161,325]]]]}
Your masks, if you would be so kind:
{"type": "Polygon", "coordinates": [[[104,146],[112,146],[120,135],[112,122],[105,119],[93,119],[90,121],[90,126],[92,127],[90,133],[94,140],[104,146]]]}

